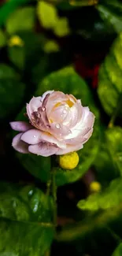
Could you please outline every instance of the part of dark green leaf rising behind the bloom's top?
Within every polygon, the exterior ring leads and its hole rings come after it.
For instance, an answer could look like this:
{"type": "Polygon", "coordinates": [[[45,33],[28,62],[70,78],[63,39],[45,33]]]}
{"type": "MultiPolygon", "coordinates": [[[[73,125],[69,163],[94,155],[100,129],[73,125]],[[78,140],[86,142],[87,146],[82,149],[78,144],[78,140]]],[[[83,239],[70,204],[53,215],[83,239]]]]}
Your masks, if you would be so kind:
{"type": "Polygon", "coordinates": [[[87,83],[77,75],[72,67],[69,66],[46,76],[46,78],[39,83],[36,95],[43,95],[43,93],[48,90],[63,91],[69,95],[74,95],[76,98],[81,98],[83,106],[89,106],[91,111],[98,118],[98,109],[94,105],[94,100],[89,87],[87,87],[87,83]]]}

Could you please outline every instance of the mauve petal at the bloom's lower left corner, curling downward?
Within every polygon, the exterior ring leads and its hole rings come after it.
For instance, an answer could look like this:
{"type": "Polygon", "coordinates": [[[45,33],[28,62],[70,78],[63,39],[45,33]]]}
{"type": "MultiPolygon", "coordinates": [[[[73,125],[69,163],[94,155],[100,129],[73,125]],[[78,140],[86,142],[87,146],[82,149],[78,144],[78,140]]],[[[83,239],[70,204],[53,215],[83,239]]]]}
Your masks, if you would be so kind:
{"type": "Polygon", "coordinates": [[[19,151],[20,153],[28,154],[29,153],[28,144],[20,140],[21,135],[23,135],[23,132],[20,132],[13,138],[12,146],[14,147],[15,150],[19,151]]]}

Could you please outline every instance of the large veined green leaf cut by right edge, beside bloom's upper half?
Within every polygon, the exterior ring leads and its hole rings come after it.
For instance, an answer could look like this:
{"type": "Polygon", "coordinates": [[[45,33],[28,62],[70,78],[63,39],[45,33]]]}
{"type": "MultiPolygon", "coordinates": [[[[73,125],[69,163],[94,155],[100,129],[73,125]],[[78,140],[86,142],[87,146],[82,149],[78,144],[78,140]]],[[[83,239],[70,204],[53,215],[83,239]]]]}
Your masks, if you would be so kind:
{"type": "Polygon", "coordinates": [[[105,58],[100,71],[98,96],[105,112],[112,115],[122,93],[122,34],[113,43],[108,56],[105,58]],[[109,95],[109,97],[108,97],[109,95]]]}

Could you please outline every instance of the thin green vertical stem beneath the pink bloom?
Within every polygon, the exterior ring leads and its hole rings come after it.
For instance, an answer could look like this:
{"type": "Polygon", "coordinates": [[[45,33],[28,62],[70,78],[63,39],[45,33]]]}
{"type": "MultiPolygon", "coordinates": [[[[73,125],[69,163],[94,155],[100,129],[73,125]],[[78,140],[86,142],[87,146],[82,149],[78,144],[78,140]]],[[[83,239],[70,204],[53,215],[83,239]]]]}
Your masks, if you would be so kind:
{"type": "Polygon", "coordinates": [[[54,171],[52,171],[52,195],[54,198],[54,227],[57,227],[57,186],[54,171]]]}

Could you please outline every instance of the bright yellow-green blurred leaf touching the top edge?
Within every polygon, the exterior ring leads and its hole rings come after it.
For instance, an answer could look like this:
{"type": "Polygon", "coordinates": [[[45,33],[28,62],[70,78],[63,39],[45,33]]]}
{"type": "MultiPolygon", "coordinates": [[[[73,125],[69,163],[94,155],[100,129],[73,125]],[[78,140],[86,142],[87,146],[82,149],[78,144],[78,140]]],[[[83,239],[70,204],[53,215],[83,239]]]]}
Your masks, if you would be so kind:
{"type": "Polygon", "coordinates": [[[39,1],[37,15],[44,28],[54,28],[57,24],[57,9],[50,3],[39,1]]]}

